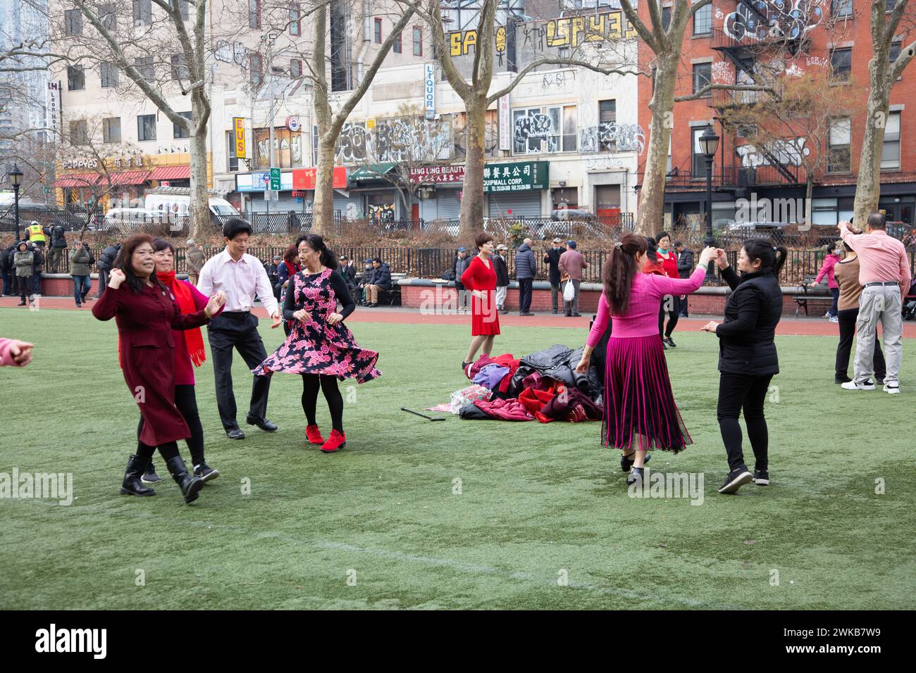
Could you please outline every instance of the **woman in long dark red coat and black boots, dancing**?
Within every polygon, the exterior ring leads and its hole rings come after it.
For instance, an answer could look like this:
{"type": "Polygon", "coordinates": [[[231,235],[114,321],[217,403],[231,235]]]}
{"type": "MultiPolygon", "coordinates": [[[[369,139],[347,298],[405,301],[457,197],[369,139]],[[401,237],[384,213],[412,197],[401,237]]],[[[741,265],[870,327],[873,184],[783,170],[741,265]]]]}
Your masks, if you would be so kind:
{"type": "Polygon", "coordinates": [[[178,452],[178,440],[191,437],[191,430],[175,407],[172,330],[190,330],[206,324],[224,300],[217,295],[202,310],[182,314],[169,289],[156,277],[153,237],[138,233],[121,246],[108,290],[93,306],[93,315],[99,320],[114,318],[117,323],[121,369],[143,417],[143,432],[136,455],[127,462],[122,494],[153,494],[140,478],[158,447],[184,501],[191,503],[197,499],[203,482],[200,477],[188,474],[178,452]]]}

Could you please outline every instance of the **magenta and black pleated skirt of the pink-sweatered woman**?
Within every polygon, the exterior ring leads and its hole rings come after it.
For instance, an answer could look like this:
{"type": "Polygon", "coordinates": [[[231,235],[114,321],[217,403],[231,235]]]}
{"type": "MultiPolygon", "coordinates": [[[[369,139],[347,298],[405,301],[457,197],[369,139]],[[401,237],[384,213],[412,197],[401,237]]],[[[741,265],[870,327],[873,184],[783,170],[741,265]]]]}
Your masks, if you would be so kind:
{"type": "Polygon", "coordinates": [[[674,404],[658,334],[607,340],[604,403],[605,446],[677,453],[693,443],[674,404]]]}

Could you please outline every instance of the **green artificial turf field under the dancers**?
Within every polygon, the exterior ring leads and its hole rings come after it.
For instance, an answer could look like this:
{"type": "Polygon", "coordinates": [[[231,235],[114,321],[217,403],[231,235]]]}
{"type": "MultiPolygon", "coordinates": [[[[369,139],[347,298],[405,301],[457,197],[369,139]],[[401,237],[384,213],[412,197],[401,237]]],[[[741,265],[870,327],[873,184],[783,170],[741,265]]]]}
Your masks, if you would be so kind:
{"type": "MultiPolygon", "coordinates": [[[[353,323],[384,375],[342,385],[338,454],[305,444],[300,378],[284,374],[268,407],[278,432],[243,425],[247,439],[227,440],[202,367],[207,460],[223,475],[186,506],[160,458],[168,481],[154,497],[118,494],[137,411],[114,321],[0,309],[0,325],[36,343],[27,369],[0,370],[0,472],[72,472],[76,496],[0,500],[3,609],[916,606],[911,342],[903,394],[888,396],[834,385],[834,338],[780,337],[772,485],[724,496],[716,340],[675,333],[668,363],[694,444],[649,467],[702,472],[703,504],[691,505],[629,497],[599,423],[432,423],[400,411],[466,384],[469,329],[353,323]]],[[[264,322],[262,332],[268,351],[282,339],[264,322]]],[[[505,328],[496,353],[583,339],[505,328]]],[[[234,378],[244,414],[251,379],[237,356],[234,378]]],[[[321,397],[319,423],[327,434],[321,397]]]]}

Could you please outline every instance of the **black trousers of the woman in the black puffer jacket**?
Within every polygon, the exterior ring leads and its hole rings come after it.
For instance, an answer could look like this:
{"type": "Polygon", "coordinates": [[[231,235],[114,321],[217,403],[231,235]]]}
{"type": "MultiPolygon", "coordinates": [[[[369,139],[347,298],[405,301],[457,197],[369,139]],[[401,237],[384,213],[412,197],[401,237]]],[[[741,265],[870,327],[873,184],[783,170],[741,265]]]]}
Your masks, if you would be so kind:
{"type": "Polygon", "coordinates": [[[750,447],[754,450],[755,468],[769,469],[769,433],[767,419],[763,416],[763,403],[767,399],[769,382],[773,375],[747,376],[745,374],[719,375],[719,404],[715,408],[719,419],[719,431],[728,454],[728,469],[745,467],[741,450],[741,426],[738,415],[744,410],[745,425],[750,447]]]}

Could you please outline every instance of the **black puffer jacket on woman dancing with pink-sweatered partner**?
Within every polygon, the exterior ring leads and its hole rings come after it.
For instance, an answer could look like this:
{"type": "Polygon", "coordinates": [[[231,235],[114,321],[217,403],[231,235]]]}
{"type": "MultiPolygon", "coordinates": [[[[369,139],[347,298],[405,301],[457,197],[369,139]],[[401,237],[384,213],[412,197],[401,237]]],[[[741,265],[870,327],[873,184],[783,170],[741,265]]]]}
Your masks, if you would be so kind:
{"type": "Polygon", "coordinates": [[[732,288],[725,300],[725,321],[719,337],[719,371],[723,374],[779,374],[773,336],[782,316],[782,289],[770,271],[738,277],[731,266],[722,277],[732,288]]]}

